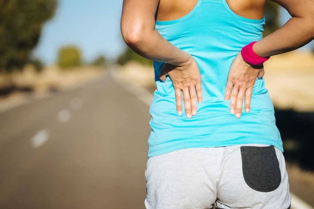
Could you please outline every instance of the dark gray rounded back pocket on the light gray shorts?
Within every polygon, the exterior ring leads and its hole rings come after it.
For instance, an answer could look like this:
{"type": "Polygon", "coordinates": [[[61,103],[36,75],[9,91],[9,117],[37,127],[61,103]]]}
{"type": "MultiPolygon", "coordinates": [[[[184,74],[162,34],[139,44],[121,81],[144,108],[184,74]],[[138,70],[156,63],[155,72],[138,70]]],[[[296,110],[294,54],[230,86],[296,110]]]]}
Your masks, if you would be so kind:
{"type": "Polygon", "coordinates": [[[281,173],[275,147],[241,146],[240,149],[246,184],[262,192],[277,189],[281,182],[281,173]]]}

